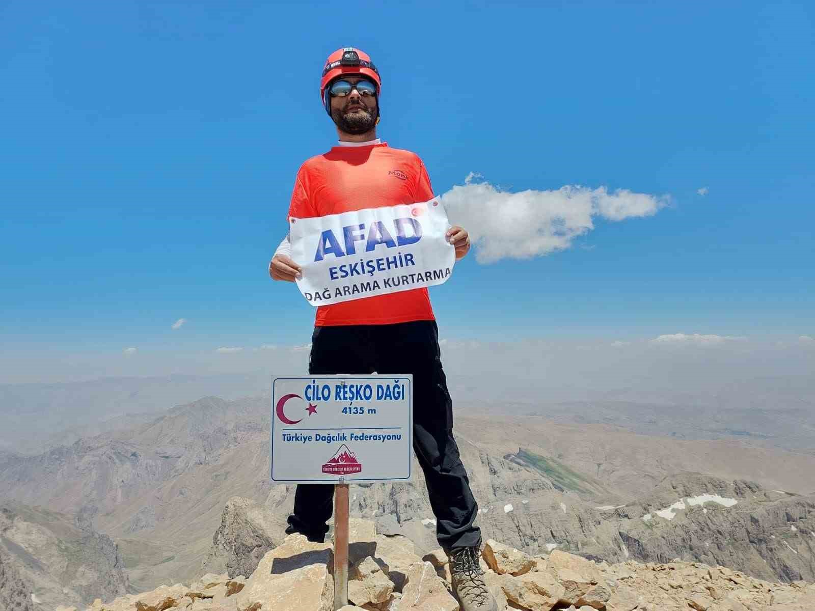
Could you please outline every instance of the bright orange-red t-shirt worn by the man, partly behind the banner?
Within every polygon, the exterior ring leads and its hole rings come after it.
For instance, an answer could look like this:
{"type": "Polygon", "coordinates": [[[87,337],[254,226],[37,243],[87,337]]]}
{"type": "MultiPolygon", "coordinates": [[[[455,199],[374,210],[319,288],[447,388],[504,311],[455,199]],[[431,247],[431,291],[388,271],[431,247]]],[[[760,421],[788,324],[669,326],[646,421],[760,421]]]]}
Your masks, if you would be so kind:
{"type": "MultiPolygon", "coordinates": [[[[433,199],[425,164],[416,153],[391,148],[378,140],[341,145],[332,147],[323,155],[311,157],[300,166],[289,205],[289,217],[323,217],[433,199]]],[[[315,326],[391,324],[433,319],[427,289],[415,288],[332,306],[319,306],[315,326]]]]}

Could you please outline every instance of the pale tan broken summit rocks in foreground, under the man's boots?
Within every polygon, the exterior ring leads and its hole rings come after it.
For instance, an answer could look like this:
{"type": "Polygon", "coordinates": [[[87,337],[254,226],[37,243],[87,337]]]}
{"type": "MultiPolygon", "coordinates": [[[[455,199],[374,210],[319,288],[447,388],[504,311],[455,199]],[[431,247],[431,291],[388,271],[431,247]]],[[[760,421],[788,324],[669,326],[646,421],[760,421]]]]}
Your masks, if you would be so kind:
{"type": "MultiPolygon", "coordinates": [[[[371,521],[350,521],[350,601],[342,611],[458,611],[447,556],[420,557],[409,538],[381,534],[371,521]]],[[[812,611],[815,584],[778,583],[698,562],[608,564],[553,550],[526,553],[488,539],[485,581],[501,611],[812,611]]],[[[208,573],[85,611],[332,611],[331,543],[301,534],[284,538],[247,575],[208,573]]],[[[56,611],[78,611],[58,606],[56,611]]]]}

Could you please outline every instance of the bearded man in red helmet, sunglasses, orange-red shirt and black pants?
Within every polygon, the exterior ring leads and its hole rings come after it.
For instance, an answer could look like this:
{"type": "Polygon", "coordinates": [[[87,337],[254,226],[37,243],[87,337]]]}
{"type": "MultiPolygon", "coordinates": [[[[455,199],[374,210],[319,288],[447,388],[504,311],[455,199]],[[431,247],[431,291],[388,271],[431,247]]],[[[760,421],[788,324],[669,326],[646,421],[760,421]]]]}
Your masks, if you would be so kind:
{"type": "MultiPolygon", "coordinates": [[[[345,48],[328,56],[320,98],[337,126],[339,143],[307,160],[297,172],[290,218],[415,204],[433,199],[425,165],[415,153],[377,138],[381,78],[363,51],[345,48]]],[[[456,259],[469,251],[469,235],[447,231],[456,259]]],[[[275,280],[293,282],[300,266],[288,238],[269,264],[275,280]]],[[[317,309],[309,373],[412,373],[414,442],[436,516],[438,543],[450,557],[452,586],[463,611],[496,611],[478,565],[478,504],[452,435],[452,401],[438,348],[438,327],[426,288],[345,301],[317,309]]],[[[300,485],[287,534],[322,542],[333,512],[333,485],[300,485]]]]}

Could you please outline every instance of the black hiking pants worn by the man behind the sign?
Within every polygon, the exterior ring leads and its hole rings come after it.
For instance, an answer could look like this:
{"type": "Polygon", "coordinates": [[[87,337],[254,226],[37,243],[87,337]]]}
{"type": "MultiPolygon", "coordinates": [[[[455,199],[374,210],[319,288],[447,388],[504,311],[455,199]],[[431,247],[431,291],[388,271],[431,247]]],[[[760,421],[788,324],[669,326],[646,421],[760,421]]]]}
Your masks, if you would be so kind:
{"type": "MultiPolygon", "coordinates": [[[[315,327],[309,373],[413,374],[413,451],[427,481],[441,547],[481,542],[473,525],[478,504],[469,489],[452,434],[452,401],[434,320],[383,325],[315,327]]],[[[333,484],[300,484],[287,532],[322,541],[333,513],[333,484]]]]}

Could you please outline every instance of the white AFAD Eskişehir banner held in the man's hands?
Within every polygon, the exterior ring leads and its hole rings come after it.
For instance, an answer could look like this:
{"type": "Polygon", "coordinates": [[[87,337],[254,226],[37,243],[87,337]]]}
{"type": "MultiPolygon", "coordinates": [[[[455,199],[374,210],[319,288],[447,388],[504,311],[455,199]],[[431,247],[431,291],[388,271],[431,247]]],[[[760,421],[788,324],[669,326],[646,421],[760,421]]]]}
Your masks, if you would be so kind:
{"type": "Polygon", "coordinates": [[[449,228],[438,199],[292,218],[292,258],[302,267],[297,287],[312,306],[327,306],[442,284],[456,262],[449,228]]]}

